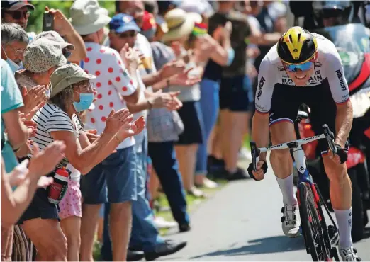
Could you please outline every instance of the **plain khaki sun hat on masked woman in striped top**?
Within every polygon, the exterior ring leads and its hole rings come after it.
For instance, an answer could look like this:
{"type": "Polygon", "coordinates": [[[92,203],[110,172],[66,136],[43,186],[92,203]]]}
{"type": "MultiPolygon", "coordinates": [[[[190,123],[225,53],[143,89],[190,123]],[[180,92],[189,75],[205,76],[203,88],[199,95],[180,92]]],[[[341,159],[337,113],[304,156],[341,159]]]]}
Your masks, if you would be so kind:
{"type": "Polygon", "coordinates": [[[56,96],[57,93],[63,91],[67,86],[90,79],[96,79],[96,76],[86,74],[77,64],[70,63],[62,65],[62,67],[58,67],[50,76],[52,86],[50,98],[56,96]]]}

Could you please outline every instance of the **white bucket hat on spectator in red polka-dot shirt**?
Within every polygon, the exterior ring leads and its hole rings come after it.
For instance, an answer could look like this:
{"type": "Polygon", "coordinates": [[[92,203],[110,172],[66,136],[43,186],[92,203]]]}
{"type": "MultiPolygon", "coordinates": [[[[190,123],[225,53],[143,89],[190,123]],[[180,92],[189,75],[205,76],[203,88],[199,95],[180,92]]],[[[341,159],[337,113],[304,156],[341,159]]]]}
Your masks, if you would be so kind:
{"type": "Polygon", "coordinates": [[[69,15],[71,16],[69,21],[80,35],[95,33],[111,21],[96,0],[74,1],[69,9],[69,15]]]}

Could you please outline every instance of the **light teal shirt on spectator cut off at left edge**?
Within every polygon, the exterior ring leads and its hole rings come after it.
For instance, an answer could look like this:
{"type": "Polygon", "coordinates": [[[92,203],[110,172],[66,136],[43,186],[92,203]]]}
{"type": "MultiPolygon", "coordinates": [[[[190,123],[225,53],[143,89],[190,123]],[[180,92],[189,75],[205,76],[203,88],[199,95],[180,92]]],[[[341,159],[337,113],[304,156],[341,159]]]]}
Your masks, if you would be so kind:
{"type": "MultiPolygon", "coordinates": [[[[14,74],[9,67],[9,64],[1,59],[1,139],[5,139],[4,148],[1,150],[1,155],[4,158],[6,173],[13,170],[18,165],[18,159],[11,148],[9,142],[7,142],[4,134],[5,124],[2,119],[2,115],[11,110],[15,110],[23,106],[23,98],[21,91],[19,91],[14,74]]],[[[8,130],[9,131],[9,130],[8,130]]]]}

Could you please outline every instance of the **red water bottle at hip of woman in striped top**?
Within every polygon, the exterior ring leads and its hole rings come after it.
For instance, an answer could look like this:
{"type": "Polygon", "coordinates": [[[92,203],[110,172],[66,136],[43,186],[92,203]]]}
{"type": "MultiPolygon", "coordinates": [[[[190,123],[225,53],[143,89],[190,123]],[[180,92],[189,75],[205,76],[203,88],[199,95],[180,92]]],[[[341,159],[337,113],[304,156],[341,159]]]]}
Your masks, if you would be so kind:
{"type": "Polygon", "coordinates": [[[47,188],[47,200],[58,205],[68,188],[69,173],[65,167],[55,171],[54,182],[47,188]]]}

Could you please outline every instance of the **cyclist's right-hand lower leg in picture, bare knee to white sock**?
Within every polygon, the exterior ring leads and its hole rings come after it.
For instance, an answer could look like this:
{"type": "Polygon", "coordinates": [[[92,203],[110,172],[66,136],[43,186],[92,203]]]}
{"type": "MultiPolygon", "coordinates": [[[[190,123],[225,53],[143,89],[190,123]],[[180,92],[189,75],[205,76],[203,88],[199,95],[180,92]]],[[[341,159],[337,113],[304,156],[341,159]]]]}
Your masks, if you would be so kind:
{"type": "Polygon", "coordinates": [[[330,180],[330,200],[337,217],[340,231],[340,246],[352,246],[352,183],[345,164],[336,164],[328,155],[323,154],[325,172],[330,180]]]}

